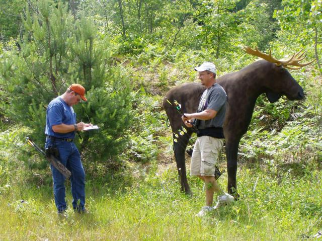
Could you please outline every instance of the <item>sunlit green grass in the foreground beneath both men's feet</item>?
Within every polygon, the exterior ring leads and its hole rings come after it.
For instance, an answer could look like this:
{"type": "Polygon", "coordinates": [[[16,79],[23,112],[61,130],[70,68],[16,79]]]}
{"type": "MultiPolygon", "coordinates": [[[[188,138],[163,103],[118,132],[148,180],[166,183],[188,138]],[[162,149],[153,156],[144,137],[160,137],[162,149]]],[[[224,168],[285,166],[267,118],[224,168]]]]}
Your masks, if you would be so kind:
{"type": "MultiPolygon", "coordinates": [[[[272,178],[259,166],[245,166],[238,170],[240,199],[204,218],[195,216],[204,204],[202,183],[190,178],[194,195],[184,195],[173,168],[162,174],[151,171],[122,190],[89,182],[90,214],[68,209],[63,218],[56,214],[50,185],[21,180],[0,196],[0,239],[298,240],[321,228],[321,179],[319,171],[272,178]]],[[[69,192],[67,202],[71,204],[69,192]]]]}

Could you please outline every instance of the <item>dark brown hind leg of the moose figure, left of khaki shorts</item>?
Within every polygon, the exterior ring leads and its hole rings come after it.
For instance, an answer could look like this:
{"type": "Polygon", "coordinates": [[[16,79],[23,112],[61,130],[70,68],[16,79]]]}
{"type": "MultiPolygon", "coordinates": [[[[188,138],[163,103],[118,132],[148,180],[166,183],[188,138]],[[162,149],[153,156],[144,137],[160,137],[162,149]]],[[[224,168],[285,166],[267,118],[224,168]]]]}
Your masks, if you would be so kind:
{"type": "Polygon", "coordinates": [[[191,194],[190,187],[187,181],[185,150],[189,141],[191,133],[185,133],[178,142],[174,142],[174,152],[181,185],[181,191],[186,194],[191,194]]]}

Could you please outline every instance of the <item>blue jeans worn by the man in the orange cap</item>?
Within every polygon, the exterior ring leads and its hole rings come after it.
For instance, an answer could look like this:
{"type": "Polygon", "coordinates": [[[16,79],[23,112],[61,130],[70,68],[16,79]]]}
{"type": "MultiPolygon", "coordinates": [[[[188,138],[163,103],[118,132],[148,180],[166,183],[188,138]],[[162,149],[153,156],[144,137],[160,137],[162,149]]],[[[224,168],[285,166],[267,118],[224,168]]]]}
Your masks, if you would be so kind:
{"type": "MultiPolygon", "coordinates": [[[[59,151],[60,162],[71,172],[72,207],[78,211],[85,209],[85,171],[81,155],[74,142],[46,138],[45,148],[53,146],[59,151]]],[[[50,165],[54,182],[54,198],[58,212],[63,212],[67,205],[65,201],[65,177],[50,165]]]]}

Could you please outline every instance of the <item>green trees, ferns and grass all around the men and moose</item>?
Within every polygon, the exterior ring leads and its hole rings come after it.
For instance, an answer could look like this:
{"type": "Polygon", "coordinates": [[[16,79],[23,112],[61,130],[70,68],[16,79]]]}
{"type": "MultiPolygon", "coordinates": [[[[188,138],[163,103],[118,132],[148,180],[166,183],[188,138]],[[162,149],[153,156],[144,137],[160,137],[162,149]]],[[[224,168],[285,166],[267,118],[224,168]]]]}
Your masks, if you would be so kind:
{"type": "MultiPolygon", "coordinates": [[[[321,0],[0,6],[0,239],[294,240],[322,228],[321,0]],[[189,178],[194,195],[180,192],[162,100],[172,87],[198,82],[194,67],[203,61],[216,64],[217,76],[254,62],[243,46],[276,58],[304,49],[314,63],[290,73],[306,98],[258,98],[239,145],[240,199],[200,219],[202,184],[189,178]],[[59,219],[48,163],[25,137],[43,146],[46,106],[71,83],[89,100],[74,107],[77,121],[100,130],[75,140],[90,214],[68,209],[59,219]]],[[[218,166],[225,169],[223,151],[218,166]]]]}

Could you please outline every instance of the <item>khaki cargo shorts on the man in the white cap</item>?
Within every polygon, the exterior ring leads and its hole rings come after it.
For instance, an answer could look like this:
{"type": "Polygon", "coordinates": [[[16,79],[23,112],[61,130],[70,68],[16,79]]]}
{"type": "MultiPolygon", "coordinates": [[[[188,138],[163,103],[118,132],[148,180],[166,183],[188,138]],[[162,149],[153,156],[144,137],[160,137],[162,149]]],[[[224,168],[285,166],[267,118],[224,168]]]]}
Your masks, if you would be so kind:
{"type": "Polygon", "coordinates": [[[223,139],[206,135],[198,137],[191,156],[190,175],[214,177],[216,160],[222,146],[223,139]]]}

